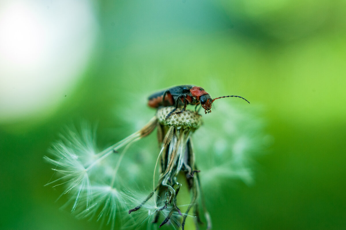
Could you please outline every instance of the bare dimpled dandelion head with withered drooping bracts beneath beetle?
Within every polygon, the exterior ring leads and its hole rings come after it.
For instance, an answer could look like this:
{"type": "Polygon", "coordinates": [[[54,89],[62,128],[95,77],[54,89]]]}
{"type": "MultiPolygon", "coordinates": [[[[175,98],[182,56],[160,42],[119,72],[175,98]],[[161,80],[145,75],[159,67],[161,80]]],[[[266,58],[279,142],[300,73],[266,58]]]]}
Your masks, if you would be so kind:
{"type": "MultiPolygon", "coordinates": [[[[170,212],[161,222],[159,227],[167,223],[171,219],[172,214],[179,213],[179,215],[182,216],[181,227],[182,229],[184,229],[186,217],[189,216],[189,211],[192,207],[194,207],[194,217],[197,219],[195,223],[201,223],[199,211],[197,208],[198,205],[195,203],[198,193],[201,193],[200,181],[197,175],[199,170],[197,170],[197,167],[195,165],[195,157],[190,136],[195,130],[200,127],[202,121],[201,115],[190,110],[185,110],[182,113],[173,114],[167,117],[172,109],[174,109],[174,107],[172,106],[161,107],[157,110],[156,113],[157,139],[162,147],[156,161],[155,170],[157,165],[159,164],[161,168],[160,178],[155,185],[156,181],[154,172],[153,192],[151,192],[148,197],[137,207],[130,209],[129,213],[142,208],[142,206],[149,199],[152,199],[152,197],[154,197],[155,199],[157,195],[160,198],[160,202],[162,200],[164,200],[164,202],[163,204],[161,204],[161,206],[158,205],[154,222],[157,222],[158,216],[161,213],[160,211],[167,209],[167,207],[170,206],[170,212]],[[180,187],[182,186],[182,184],[177,180],[179,173],[183,173],[185,175],[188,189],[192,193],[191,202],[188,205],[185,213],[182,213],[177,206],[177,196],[180,187]]],[[[202,202],[202,207],[204,216],[207,220],[207,229],[210,229],[210,215],[206,210],[204,202],[202,202]]]]}

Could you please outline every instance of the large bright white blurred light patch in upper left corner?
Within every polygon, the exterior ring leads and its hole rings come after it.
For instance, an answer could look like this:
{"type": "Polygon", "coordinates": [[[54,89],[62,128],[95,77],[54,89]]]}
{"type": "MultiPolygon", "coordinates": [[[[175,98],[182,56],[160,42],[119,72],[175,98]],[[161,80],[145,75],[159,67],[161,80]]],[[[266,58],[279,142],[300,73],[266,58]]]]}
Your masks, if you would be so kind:
{"type": "Polygon", "coordinates": [[[71,95],[97,35],[85,0],[0,4],[0,123],[46,116],[71,95]]]}

